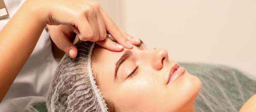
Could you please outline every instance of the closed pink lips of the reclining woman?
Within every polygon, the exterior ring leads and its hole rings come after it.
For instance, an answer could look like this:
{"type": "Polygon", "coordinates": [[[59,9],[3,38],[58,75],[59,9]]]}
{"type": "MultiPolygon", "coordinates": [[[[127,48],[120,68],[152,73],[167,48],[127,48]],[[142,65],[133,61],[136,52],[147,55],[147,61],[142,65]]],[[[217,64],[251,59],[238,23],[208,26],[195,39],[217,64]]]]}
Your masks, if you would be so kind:
{"type": "Polygon", "coordinates": [[[185,72],[184,67],[180,67],[177,63],[175,63],[170,71],[169,71],[169,76],[167,78],[167,84],[178,78],[181,74],[185,72]]]}

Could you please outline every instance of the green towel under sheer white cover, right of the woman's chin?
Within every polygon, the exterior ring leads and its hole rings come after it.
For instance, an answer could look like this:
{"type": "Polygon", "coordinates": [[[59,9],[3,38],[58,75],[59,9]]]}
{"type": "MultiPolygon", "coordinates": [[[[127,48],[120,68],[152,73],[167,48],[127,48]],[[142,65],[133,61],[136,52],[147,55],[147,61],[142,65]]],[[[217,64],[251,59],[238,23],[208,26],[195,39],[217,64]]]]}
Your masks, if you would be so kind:
{"type": "Polygon", "coordinates": [[[256,94],[256,81],[237,69],[203,63],[179,64],[202,82],[194,105],[196,112],[238,112],[256,94]]]}

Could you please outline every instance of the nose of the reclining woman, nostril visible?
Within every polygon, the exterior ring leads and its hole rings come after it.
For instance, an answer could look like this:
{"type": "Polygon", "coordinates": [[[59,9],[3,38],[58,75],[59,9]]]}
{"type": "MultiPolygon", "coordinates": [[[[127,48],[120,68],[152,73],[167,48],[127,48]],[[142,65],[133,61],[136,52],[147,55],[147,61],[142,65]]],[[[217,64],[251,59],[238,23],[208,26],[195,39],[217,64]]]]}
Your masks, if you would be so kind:
{"type": "Polygon", "coordinates": [[[168,61],[168,52],[166,49],[155,49],[152,55],[151,65],[154,69],[160,70],[163,64],[168,61]]]}

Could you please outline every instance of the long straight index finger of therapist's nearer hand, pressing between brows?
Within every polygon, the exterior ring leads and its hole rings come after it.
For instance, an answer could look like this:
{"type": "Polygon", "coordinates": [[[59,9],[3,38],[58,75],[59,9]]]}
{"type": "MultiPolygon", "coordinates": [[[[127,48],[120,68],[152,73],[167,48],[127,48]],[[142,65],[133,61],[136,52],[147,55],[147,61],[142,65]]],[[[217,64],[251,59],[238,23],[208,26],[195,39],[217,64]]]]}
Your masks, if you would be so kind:
{"type": "Polygon", "coordinates": [[[118,44],[123,45],[127,49],[132,48],[131,42],[123,35],[121,30],[116,26],[113,20],[108,16],[108,14],[100,8],[101,15],[105,22],[106,31],[110,34],[118,44]]]}

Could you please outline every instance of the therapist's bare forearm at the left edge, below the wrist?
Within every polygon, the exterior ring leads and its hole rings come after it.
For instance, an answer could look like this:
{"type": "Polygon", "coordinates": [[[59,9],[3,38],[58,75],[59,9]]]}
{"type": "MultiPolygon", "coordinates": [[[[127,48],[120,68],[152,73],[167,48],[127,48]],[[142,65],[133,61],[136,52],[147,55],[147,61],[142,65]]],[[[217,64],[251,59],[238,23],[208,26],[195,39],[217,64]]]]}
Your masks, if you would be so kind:
{"type": "Polygon", "coordinates": [[[32,6],[26,1],[0,31],[0,102],[46,26],[44,15],[32,6]]]}

